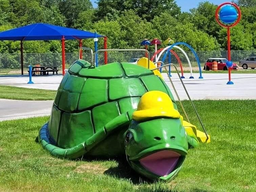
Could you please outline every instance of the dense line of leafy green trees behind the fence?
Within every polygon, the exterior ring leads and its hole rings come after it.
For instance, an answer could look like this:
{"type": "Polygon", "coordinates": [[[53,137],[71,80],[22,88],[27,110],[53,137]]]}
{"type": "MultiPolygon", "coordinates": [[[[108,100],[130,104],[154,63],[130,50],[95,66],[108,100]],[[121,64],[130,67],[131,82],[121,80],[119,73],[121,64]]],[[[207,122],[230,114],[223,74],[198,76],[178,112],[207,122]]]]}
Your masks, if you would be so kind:
{"type": "MultiPolygon", "coordinates": [[[[256,0],[233,2],[242,18],[231,29],[231,49],[255,50],[256,0]]],[[[227,50],[227,31],[215,20],[217,5],[208,1],[190,12],[181,12],[175,0],[98,0],[97,4],[93,8],[89,0],[0,0],[0,31],[40,22],[96,31],[108,37],[108,48],[142,48],[145,38],[171,38],[197,51],[227,50]]],[[[92,39],[83,44],[93,48],[92,39]]],[[[28,41],[23,46],[25,53],[61,51],[60,41],[28,41]]],[[[66,42],[67,52],[76,52],[77,47],[77,41],[66,42]]],[[[0,41],[0,53],[18,53],[19,49],[20,42],[0,41]]]]}

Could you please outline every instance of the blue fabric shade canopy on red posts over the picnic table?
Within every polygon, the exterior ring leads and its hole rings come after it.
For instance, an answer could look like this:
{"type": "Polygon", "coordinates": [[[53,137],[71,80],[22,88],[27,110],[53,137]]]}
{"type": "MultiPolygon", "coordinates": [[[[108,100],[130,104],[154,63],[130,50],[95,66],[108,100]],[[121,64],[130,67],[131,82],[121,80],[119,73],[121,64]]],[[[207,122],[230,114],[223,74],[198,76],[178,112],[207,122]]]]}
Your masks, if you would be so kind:
{"type": "MultiPolygon", "coordinates": [[[[45,23],[35,23],[19,28],[14,28],[0,32],[0,40],[32,41],[32,40],[60,40],[62,36],[66,40],[94,38],[95,34],[89,31],[50,25],[45,23]]],[[[105,37],[96,34],[97,37],[105,37]]]]}

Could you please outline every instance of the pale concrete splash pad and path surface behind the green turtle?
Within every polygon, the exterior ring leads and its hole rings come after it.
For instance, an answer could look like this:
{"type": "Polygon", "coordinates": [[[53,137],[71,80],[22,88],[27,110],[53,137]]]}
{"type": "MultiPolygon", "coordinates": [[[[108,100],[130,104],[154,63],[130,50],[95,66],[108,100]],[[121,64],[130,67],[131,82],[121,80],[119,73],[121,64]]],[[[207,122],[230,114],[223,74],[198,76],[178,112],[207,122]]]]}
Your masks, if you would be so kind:
{"type": "MultiPolygon", "coordinates": [[[[166,73],[162,73],[165,82],[177,99],[166,73]]],[[[192,100],[222,100],[222,99],[256,99],[256,74],[232,74],[234,85],[227,85],[228,74],[205,73],[204,79],[198,79],[199,74],[193,74],[195,79],[189,79],[185,73],[183,82],[192,100]]],[[[35,84],[27,84],[28,76],[0,76],[0,85],[57,90],[62,76],[33,77],[35,84]]],[[[172,73],[172,81],[180,99],[187,100],[185,90],[177,74],[172,73]]],[[[8,119],[27,118],[31,116],[49,115],[53,101],[17,101],[0,99],[0,121],[8,119]]]]}

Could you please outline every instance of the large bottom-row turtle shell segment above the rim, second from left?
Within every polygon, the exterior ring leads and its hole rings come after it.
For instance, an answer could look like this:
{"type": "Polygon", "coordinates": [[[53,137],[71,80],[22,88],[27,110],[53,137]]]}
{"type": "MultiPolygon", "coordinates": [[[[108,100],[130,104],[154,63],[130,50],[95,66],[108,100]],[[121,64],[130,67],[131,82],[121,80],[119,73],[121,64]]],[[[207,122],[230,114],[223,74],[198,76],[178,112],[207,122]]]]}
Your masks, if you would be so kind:
{"type": "Polygon", "coordinates": [[[94,134],[91,111],[63,113],[58,146],[67,149],[76,146],[94,134]]]}

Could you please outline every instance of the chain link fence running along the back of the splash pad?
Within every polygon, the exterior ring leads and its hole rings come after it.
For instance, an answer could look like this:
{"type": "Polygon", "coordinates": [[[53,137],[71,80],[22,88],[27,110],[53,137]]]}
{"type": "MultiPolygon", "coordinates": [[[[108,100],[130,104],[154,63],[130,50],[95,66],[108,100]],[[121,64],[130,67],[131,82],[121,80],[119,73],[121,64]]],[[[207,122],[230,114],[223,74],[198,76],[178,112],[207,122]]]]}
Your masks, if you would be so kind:
{"type": "MultiPolygon", "coordinates": [[[[188,67],[188,61],[181,51],[176,52],[184,67],[188,67]]],[[[150,52],[152,57],[154,52],[150,52]]],[[[189,60],[196,70],[198,64],[196,58],[191,51],[186,51],[189,60]]],[[[204,66],[208,58],[227,58],[228,51],[196,51],[196,54],[200,60],[201,68],[204,66]]],[[[163,54],[164,55],[164,54],[163,54]]],[[[162,57],[161,56],[161,60],[162,57]]],[[[234,63],[238,63],[246,57],[256,56],[256,50],[249,51],[231,51],[231,60],[234,63]]],[[[65,61],[68,68],[74,61],[78,59],[77,53],[66,53],[65,61]]],[[[91,61],[90,54],[83,53],[83,59],[91,61]]],[[[108,63],[112,62],[129,62],[132,58],[145,57],[143,52],[108,52],[108,63]]],[[[168,57],[166,57],[166,63],[168,63],[168,57]]],[[[104,52],[100,52],[98,55],[99,65],[104,64],[104,52]]],[[[171,63],[177,64],[178,61],[174,56],[171,57],[171,63]]],[[[23,54],[24,73],[27,73],[29,65],[41,65],[41,66],[58,66],[59,70],[62,69],[62,54],[61,53],[43,53],[43,54],[23,54]]],[[[186,69],[186,68],[185,68],[186,69]]],[[[20,54],[0,54],[0,74],[20,74],[21,73],[21,55],[20,54]]]]}

